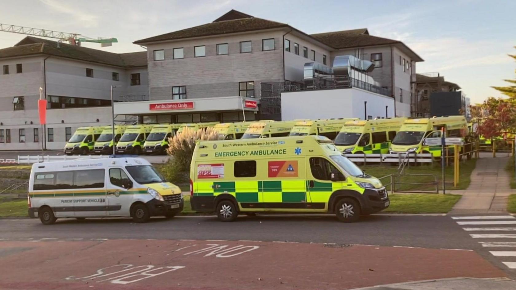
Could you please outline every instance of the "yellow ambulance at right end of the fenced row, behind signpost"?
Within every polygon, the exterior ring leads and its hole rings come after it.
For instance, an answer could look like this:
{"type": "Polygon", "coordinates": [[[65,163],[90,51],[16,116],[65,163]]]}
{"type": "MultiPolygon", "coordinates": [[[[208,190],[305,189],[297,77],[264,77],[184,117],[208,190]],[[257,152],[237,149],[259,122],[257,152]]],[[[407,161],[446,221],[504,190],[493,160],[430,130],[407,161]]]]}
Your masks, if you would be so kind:
{"type": "MultiPolygon", "coordinates": [[[[441,157],[441,146],[425,146],[424,138],[441,138],[441,128],[445,137],[466,137],[467,121],[464,116],[433,117],[406,120],[394,137],[389,151],[391,153],[432,153],[441,157]]],[[[448,149],[453,152],[453,147],[448,149]]]]}

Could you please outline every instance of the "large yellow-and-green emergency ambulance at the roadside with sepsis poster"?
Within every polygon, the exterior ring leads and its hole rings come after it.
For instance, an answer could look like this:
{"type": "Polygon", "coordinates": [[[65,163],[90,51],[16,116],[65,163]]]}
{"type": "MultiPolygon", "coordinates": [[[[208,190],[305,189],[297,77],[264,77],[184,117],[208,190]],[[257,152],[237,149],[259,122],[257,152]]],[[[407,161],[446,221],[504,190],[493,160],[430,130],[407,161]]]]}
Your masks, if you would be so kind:
{"type": "Polygon", "coordinates": [[[324,136],[200,141],[190,166],[192,210],[239,214],[334,213],[353,222],[390,204],[382,183],[324,136]]]}

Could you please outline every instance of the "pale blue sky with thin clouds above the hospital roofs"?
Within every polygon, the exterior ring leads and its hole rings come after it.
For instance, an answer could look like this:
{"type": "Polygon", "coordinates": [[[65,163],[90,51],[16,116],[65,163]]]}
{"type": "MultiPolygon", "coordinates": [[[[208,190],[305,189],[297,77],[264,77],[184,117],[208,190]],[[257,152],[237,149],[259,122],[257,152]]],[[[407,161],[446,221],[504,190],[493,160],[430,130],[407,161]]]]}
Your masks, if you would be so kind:
{"type": "MultiPolygon", "coordinates": [[[[516,54],[514,0],[3,0],[0,23],[115,37],[119,42],[102,50],[122,53],[143,51],[135,40],[209,23],[231,9],[308,34],[366,27],[371,35],[400,40],[425,60],[417,73],[439,72],[472,103],[503,96],[490,86],[516,78],[516,62],[507,56],[516,54]]],[[[0,47],[24,37],[0,32],[0,47]]]]}

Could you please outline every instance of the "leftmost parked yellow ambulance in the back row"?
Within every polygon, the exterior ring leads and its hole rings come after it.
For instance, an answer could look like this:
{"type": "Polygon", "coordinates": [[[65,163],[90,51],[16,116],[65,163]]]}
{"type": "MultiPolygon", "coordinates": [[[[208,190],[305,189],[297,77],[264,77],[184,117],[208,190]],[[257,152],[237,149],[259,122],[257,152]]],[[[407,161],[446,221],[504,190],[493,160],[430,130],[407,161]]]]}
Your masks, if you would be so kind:
{"type": "Polygon", "coordinates": [[[65,154],[88,155],[93,152],[95,140],[99,138],[104,126],[79,127],[65,144],[65,154]]]}

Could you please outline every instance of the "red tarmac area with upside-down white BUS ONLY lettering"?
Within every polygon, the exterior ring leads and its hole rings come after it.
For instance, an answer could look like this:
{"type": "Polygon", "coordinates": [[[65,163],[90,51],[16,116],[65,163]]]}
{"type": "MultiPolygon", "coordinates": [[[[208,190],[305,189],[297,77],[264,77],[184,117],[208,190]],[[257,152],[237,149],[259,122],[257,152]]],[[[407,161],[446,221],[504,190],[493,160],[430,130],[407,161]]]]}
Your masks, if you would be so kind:
{"type": "Polygon", "coordinates": [[[0,289],[349,289],[505,277],[474,251],[223,240],[0,241],[0,289]]]}

